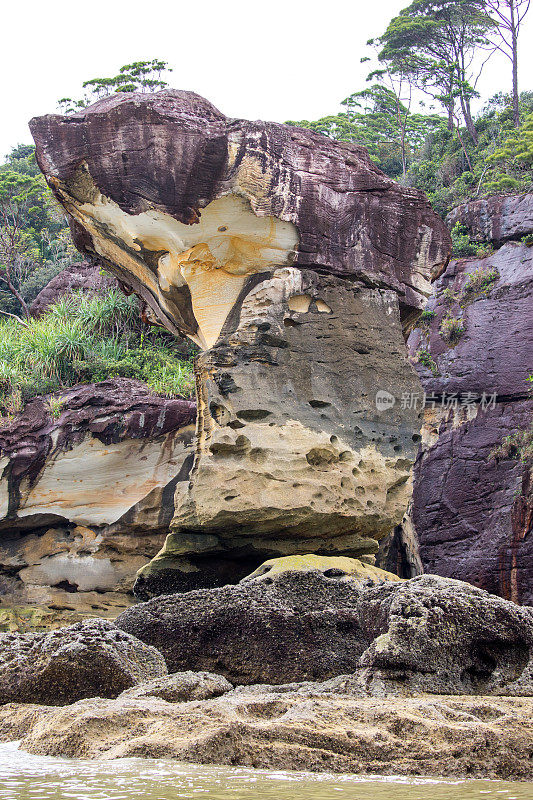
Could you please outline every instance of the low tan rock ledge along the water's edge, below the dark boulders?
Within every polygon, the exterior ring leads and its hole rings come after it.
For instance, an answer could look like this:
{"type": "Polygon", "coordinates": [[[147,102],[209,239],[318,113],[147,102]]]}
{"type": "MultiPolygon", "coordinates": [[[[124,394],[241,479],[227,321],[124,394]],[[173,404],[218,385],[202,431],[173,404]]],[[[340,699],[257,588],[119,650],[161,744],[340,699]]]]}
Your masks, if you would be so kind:
{"type": "MultiPolygon", "coordinates": [[[[65,708],[9,704],[0,708],[0,738],[20,740],[21,750],[36,755],[106,761],[175,758],[367,776],[533,777],[530,698],[362,698],[354,696],[347,676],[337,687],[332,683],[241,687],[195,703],[122,695],[65,708]]],[[[255,786],[261,795],[260,774],[255,786]]],[[[270,782],[265,793],[271,789],[270,782]]]]}

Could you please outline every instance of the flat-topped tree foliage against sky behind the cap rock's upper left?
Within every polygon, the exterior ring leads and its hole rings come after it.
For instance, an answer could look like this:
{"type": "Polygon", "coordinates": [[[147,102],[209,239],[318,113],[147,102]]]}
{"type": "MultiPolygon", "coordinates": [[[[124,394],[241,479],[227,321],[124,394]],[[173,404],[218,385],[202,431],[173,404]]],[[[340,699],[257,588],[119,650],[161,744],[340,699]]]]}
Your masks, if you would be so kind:
{"type": "Polygon", "coordinates": [[[85,81],[85,95],[81,99],[63,97],[57,104],[64,114],[73,114],[113,92],[156,92],[168,86],[161,77],[165,72],[172,72],[172,69],[167,61],[159,58],[134,61],[120,67],[118,73],[111,78],[90,78],[85,81]]]}

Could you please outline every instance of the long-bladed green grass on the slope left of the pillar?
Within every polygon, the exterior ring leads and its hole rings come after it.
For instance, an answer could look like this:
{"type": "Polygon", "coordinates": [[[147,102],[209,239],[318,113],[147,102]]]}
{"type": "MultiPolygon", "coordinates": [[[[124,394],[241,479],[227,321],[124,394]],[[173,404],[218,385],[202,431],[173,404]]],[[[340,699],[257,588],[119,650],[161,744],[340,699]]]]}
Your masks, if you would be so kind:
{"type": "MultiPolygon", "coordinates": [[[[193,391],[190,360],[174,337],[140,320],[136,297],[79,292],[27,324],[0,319],[2,417],[12,418],[36,395],[113,377],[136,378],[167,397],[193,391]]],[[[50,398],[52,417],[60,416],[62,402],[50,398]]]]}

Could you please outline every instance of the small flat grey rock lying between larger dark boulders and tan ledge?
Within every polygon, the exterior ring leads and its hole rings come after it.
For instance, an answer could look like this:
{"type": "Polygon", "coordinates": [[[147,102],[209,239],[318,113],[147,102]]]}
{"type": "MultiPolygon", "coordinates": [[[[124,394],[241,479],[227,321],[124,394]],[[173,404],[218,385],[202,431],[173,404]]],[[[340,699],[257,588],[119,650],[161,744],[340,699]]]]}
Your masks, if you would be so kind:
{"type": "Polygon", "coordinates": [[[160,697],[167,703],[186,703],[189,700],[207,700],[231,691],[233,686],[222,675],[213,672],[174,672],[162,678],[141,683],[126,689],[123,698],[160,697]]]}

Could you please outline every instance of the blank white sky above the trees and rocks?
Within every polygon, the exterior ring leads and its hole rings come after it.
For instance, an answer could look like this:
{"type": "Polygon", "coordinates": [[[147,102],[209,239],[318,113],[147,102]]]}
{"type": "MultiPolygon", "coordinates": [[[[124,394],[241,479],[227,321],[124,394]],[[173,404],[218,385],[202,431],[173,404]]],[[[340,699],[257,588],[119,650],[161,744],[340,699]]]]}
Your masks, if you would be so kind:
{"type": "MultiPolygon", "coordinates": [[[[60,97],[161,58],[170,83],[232,117],[284,122],[336,113],[365,85],[365,42],[409,0],[4,0],[0,157],[31,142],[27,123],[60,97]]],[[[533,10],[521,33],[520,88],[533,89],[533,10]]],[[[496,55],[478,86],[484,99],[510,88],[496,55]]],[[[478,104],[479,105],[479,104],[478,104]]]]}

